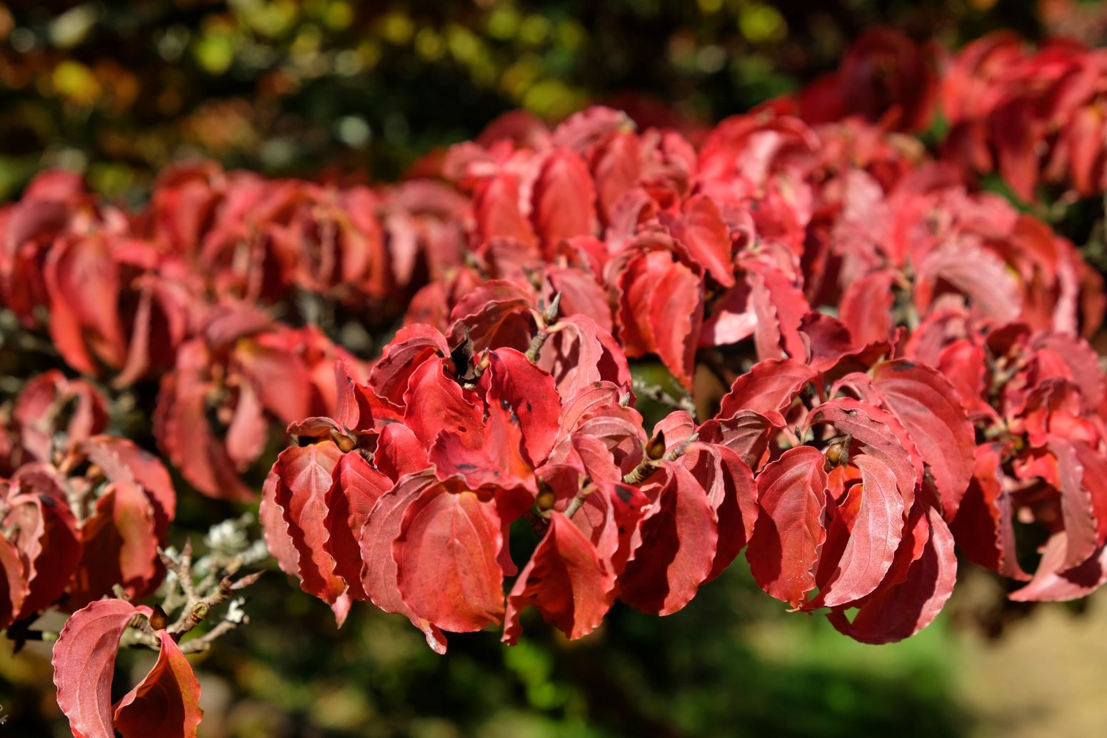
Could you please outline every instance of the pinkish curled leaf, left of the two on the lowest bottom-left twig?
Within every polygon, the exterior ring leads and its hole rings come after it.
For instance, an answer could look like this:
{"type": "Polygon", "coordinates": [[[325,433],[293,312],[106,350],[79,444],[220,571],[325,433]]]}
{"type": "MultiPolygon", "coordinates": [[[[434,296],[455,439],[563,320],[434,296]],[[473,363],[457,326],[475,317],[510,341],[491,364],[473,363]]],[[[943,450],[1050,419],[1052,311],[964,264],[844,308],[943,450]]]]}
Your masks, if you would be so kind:
{"type": "Polygon", "coordinates": [[[58,706],[76,738],[115,738],[112,719],[112,675],[115,653],[127,623],[148,607],[123,600],[99,600],[65,622],[51,664],[58,706]]]}

